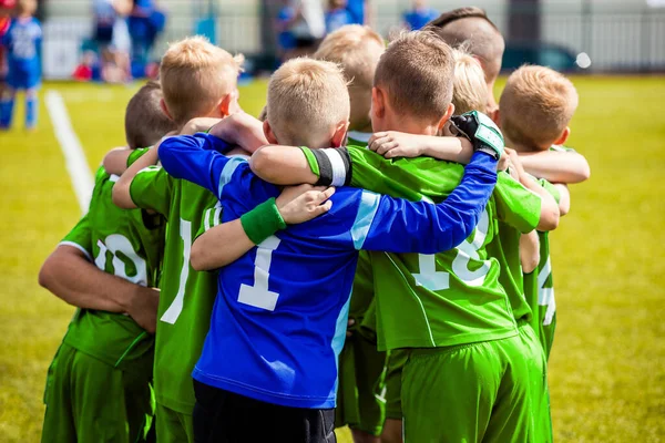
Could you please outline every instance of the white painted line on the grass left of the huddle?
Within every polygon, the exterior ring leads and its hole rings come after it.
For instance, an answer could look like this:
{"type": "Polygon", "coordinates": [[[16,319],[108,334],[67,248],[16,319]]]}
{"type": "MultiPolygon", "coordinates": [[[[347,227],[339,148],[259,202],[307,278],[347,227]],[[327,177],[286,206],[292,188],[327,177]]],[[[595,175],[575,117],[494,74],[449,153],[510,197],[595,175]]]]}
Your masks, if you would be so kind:
{"type": "Polygon", "coordinates": [[[81,213],[88,212],[90,197],[94,187],[94,178],[88,166],[85,153],[81,146],[81,142],[72,127],[66,106],[62,100],[62,95],[57,91],[49,90],[44,96],[55,137],[60,143],[60,148],[64,155],[64,163],[69,172],[74,187],[74,194],[79,200],[81,213]]]}

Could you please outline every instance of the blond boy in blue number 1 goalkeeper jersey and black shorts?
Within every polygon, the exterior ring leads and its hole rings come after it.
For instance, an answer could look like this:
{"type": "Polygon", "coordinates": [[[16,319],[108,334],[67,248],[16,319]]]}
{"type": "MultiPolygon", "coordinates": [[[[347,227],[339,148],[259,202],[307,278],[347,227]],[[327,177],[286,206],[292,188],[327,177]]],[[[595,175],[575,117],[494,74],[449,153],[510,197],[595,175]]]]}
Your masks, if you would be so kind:
{"type": "MultiPolygon", "coordinates": [[[[339,146],[349,116],[346,81],[331,63],[293,60],[274,74],[267,110],[267,141],[339,146]]],[[[237,142],[222,130],[213,133],[237,142]]],[[[335,441],[337,357],[357,250],[433,253],[457,245],[488,202],[502,145],[474,154],[460,186],[440,205],[341,188],[326,215],[278,235],[285,227],[273,209],[279,188],[260,181],[247,162],[215,152],[225,145],[198,134],[166,138],[158,148],[170,174],[221,198],[224,220],[245,230],[250,248],[219,271],[211,330],[193,372],[196,439],[335,441]],[[256,205],[265,208],[260,217],[246,215],[256,205]]],[[[217,245],[209,236],[198,239],[192,265],[228,262],[231,253],[217,245]]]]}

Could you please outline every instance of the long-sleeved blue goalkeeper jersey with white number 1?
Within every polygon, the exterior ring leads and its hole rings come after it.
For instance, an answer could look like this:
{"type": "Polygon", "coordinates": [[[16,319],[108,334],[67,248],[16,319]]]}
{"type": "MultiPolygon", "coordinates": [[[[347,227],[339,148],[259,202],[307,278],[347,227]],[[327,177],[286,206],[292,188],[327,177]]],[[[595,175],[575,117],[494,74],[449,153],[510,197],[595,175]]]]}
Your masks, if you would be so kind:
{"type": "MultiPolygon", "coordinates": [[[[224,222],[279,195],[249,164],[207,135],[166,138],[163,167],[216,194],[224,222]]],[[[497,181],[477,153],[439,205],[339,188],[332,208],[267,238],[219,271],[211,329],[193,377],[202,383],[294,408],[334,408],[359,249],[434,254],[475,227],[497,181]]],[[[408,297],[408,295],[405,295],[408,297]]]]}

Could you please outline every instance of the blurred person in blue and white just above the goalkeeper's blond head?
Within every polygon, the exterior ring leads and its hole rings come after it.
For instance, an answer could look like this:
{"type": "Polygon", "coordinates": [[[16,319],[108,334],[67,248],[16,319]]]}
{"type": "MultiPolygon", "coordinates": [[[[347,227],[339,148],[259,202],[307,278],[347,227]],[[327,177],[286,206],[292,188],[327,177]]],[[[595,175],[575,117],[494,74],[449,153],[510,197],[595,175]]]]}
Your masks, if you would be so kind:
{"type": "Polygon", "coordinates": [[[276,30],[283,61],[316,51],[326,33],[320,0],[285,0],[276,30]]]}

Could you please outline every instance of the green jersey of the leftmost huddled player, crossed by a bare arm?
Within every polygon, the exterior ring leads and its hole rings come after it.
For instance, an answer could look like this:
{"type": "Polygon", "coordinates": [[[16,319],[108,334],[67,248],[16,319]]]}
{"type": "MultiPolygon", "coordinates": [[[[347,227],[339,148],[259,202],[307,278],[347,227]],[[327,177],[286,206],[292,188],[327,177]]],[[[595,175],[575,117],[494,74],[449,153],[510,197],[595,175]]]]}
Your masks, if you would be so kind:
{"type": "MultiPolygon", "coordinates": [[[[136,150],[133,162],[145,150],[136,150]]],[[[142,286],[158,282],[164,223],[141,209],[123,210],[113,204],[112,190],[117,176],[98,169],[90,209],[64,243],[84,248],[98,268],[142,286]],[[90,240],[80,239],[88,233],[90,240]],[[81,241],[81,243],[78,243],[81,241]]],[[[154,338],[129,316],[92,309],[79,309],[70,323],[64,342],[108,364],[124,368],[153,351],[154,338]]]]}

